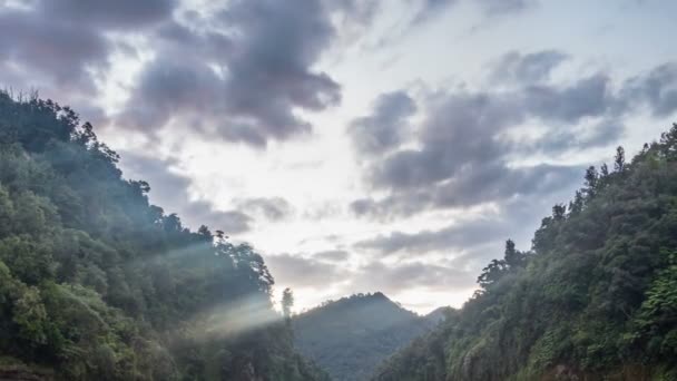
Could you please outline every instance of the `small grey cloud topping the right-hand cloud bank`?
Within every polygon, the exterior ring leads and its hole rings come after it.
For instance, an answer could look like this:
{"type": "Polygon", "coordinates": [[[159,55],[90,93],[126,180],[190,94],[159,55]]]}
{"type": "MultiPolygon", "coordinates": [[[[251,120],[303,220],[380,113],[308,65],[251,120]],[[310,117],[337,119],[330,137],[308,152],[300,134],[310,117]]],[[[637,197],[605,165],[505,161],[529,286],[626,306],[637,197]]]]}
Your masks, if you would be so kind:
{"type": "Polygon", "coordinates": [[[510,51],[494,63],[490,77],[493,81],[540,82],[549,79],[552,70],[567,59],[568,56],[558,50],[542,50],[526,55],[510,51]]]}

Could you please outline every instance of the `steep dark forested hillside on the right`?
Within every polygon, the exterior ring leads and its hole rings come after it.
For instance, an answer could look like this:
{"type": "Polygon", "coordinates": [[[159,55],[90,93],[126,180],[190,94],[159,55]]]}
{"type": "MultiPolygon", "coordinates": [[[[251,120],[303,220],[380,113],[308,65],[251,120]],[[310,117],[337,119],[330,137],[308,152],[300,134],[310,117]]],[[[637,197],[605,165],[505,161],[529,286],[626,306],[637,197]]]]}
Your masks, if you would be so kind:
{"type": "Polygon", "coordinates": [[[508,242],[481,292],[376,380],[677,380],[677,125],[590,167],[532,248],[508,242]]]}

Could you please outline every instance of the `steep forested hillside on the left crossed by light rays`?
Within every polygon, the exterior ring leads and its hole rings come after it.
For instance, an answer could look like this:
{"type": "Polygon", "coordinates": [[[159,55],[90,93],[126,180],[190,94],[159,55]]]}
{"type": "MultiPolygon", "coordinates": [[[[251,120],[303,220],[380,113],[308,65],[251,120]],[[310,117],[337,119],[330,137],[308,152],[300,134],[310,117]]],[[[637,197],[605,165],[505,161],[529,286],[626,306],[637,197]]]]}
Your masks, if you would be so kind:
{"type": "Polygon", "coordinates": [[[324,379],[263,258],[149,205],[117,160],[72,110],[0,92],[0,379],[324,379]]]}

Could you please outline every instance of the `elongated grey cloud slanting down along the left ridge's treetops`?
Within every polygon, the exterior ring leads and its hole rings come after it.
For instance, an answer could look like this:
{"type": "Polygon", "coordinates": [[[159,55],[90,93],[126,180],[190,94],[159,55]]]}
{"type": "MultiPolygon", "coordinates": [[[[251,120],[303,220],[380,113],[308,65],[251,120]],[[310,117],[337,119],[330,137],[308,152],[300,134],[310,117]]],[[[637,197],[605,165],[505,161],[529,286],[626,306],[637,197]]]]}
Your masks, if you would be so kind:
{"type": "Polygon", "coordinates": [[[171,170],[174,160],[124,153],[121,167],[127,178],[140,178],[150,184],[150,199],[171,207],[166,214],[176,212],[192,228],[208,225],[226,234],[245,233],[252,228],[253,218],[238,211],[217,211],[206,201],[190,201],[190,178],[171,170]]]}

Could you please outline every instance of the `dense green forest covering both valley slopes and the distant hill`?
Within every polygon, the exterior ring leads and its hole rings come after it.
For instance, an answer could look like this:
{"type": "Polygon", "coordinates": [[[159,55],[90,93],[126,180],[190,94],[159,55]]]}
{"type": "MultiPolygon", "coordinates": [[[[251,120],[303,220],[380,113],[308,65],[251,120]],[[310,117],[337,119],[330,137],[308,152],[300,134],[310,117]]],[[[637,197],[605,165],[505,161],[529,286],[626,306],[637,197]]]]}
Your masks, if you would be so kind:
{"type": "Polygon", "coordinates": [[[430,316],[375,293],[283,319],[252,246],[118,159],[68,107],[0,92],[0,379],[328,380],[296,342],[335,380],[677,380],[677,125],[430,316]]]}

